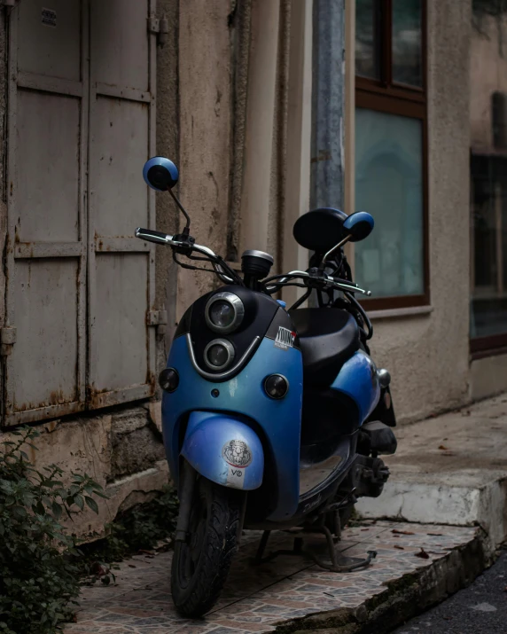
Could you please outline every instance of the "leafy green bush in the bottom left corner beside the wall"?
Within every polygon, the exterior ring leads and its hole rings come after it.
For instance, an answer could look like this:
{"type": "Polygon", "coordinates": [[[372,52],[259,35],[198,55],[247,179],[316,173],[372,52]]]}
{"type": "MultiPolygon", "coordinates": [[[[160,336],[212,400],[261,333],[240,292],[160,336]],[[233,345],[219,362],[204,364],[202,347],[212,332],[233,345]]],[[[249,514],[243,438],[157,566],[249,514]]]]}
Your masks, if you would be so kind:
{"type": "Polygon", "coordinates": [[[94,497],[106,497],[86,474],[51,465],[38,471],[24,446],[36,450],[40,435],[24,427],[0,449],[0,634],[53,634],[73,616],[79,594],[79,555],[60,523],[85,505],[98,513],[94,497]]]}

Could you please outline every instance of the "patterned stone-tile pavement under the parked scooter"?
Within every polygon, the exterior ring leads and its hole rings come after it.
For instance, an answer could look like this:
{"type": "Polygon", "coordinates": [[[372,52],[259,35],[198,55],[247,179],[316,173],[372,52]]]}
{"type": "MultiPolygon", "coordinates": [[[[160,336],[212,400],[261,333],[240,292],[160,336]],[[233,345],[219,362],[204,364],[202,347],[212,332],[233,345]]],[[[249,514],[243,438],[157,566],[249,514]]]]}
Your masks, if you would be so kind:
{"type": "MultiPolygon", "coordinates": [[[[302,556],[279,556],[255,566],[253,556],[260,536],[246,533],[222,599],[204,619],[191,621],[175,613],[169,593],[171,553],[165,552],[123,562],[114,585],[84,588],[77,622],[66,627],[66,634],[273,631],[277,622],[289,618],[360,605],[384,591],[384,583],[426,567],[466,544],[475,536],[475,529],[389,521],[346,528],[339,543],[343,556],[363,557],[372,549],[378,552],[369,568],[347,574],[326,572],[302,556]]],[[[320,537],[305,540],[305,544],[324,552],[320,537]]],[[[291,545],[291,536],[275,533],[268,552],[291,545]]]]}

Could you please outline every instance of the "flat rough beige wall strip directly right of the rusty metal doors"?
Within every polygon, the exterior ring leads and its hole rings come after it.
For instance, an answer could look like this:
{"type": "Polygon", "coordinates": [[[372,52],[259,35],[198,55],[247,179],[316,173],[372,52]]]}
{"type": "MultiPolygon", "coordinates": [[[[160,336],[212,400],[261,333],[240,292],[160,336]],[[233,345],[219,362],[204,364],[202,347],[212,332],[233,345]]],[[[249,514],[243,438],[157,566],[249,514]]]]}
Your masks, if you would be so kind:
{"type": "MultiPolygon", "coordinates": [[[[230,194],[230,9],[223,0],[179,4],[179,191],[191,215],[191,235],[222,255],[230,194]]],[[[177,317],[214,283],[209,273],[180,269],[177,317]]]]}

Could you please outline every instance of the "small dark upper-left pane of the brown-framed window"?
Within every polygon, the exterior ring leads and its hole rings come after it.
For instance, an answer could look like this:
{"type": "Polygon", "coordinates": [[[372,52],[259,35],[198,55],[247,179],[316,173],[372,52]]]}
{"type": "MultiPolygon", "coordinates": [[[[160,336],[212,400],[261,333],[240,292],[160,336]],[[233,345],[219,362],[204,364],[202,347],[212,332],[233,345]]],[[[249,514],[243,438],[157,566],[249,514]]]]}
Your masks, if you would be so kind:
{"type": "Polygon", "coordinates": [[[355,2],[355,74],[380,79],[380,2],[355,2]]]}

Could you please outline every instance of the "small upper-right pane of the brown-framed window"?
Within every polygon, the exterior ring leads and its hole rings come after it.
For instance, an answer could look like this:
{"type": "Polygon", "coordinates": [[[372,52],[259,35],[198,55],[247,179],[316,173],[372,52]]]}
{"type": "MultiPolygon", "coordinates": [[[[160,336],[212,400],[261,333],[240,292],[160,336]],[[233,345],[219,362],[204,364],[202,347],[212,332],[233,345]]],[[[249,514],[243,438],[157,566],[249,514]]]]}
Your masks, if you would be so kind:
{"type": "Polygon", "coordinates": [[[421,0],[393,0],[393,81],[423,85],[421,0]]]}

